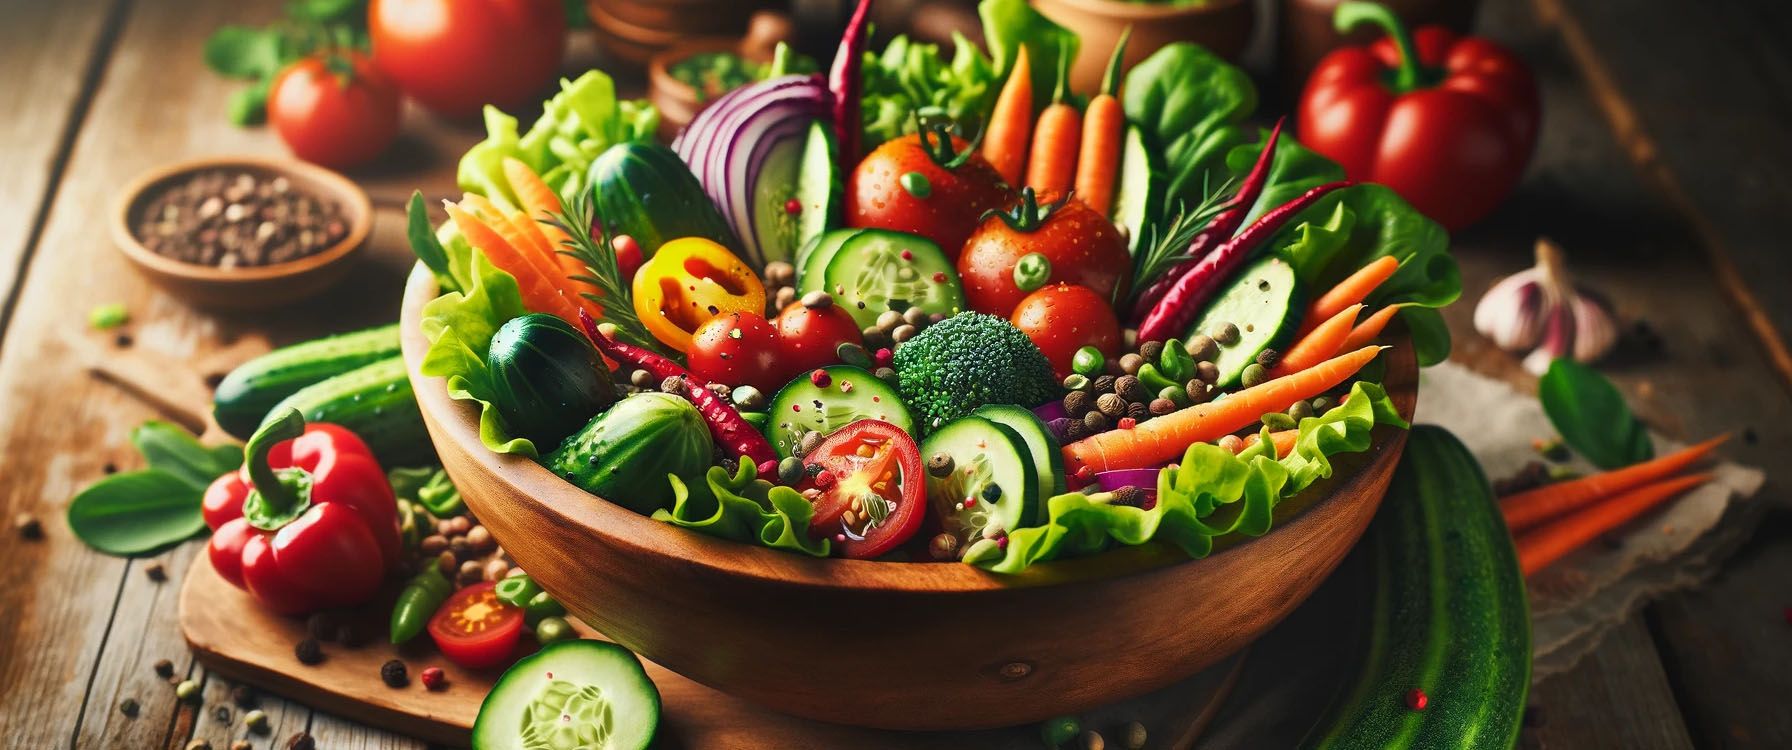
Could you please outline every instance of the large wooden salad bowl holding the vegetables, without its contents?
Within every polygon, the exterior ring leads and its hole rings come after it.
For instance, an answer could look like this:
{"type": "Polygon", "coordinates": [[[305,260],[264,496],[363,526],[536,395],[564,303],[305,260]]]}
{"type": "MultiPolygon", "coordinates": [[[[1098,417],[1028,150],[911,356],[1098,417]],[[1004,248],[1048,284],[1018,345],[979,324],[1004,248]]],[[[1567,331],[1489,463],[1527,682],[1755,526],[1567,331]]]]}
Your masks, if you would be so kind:
{"type": "MultiPolygon", "coordinates": [[[[1263,537],[1190,560],[1120,548],[995,575],[955,562],[819,560],[706,537],[586,494],[478,440],[471,401],[418,372],[435,281],[403,301],[403,353],[443,465],[504,550],[609,639],[787,714],[878,729],[987,729],[1138,696],[1224,659],[1294,610],[1357,542],[1403,430],[1337,456],[1263,537]]],[[[1385,385],[1412,417],[1407,342],[1385,385]]]]}

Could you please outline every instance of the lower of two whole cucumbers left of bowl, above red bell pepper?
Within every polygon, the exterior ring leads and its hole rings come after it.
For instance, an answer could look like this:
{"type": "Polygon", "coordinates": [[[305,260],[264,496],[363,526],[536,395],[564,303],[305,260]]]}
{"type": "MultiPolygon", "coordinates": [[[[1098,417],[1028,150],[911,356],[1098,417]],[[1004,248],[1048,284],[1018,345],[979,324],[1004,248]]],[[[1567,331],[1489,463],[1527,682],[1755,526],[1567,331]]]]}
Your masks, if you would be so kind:
{"type": "Polygon", "coordinates": [[[435,462],[435,446],[423,428],[405,360],[398,356],[299,388],[269,413],[285,413],[287,408],[299,410],[308,422],[348,428],[373,449],[380,465],[435,462]]]}

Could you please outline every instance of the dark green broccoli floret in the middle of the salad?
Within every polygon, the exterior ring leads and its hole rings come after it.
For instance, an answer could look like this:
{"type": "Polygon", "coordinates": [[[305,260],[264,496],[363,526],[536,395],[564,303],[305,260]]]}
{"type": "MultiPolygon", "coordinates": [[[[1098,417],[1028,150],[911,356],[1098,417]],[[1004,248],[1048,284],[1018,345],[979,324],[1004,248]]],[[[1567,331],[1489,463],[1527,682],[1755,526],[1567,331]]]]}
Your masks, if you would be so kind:
{"type": "Polygon", "coordinates": [[[984,313],[953,315],[896,347],[896,388],[921,431],[984,405],[1038,406],[1059,390],[1039,347],[984,313]]]}

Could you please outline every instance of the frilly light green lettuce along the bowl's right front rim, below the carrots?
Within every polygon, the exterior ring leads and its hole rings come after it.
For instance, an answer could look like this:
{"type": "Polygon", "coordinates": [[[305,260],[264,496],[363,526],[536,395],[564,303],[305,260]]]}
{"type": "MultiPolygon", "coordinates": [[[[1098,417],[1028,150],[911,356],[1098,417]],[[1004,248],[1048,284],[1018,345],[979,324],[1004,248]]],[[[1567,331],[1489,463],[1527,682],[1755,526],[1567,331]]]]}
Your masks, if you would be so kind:
{"type": "Polygon", "coordinates": [[[1190,557],[1206,557],[1215,537],[1269,532],[1276,505],[1331,476],[1330,456],[1369,449],[1376,424],[1407,428],[1380,385],[1358,381],[1342,405],[1301,421],[1287,458],[1276,458],[1267,428],[1262,440],[1238,455],[1197,442],[1188,446],[1181,464],[1158,473],[1158,505],[1150,510],[1111,505],[1107,492],[1061,494],[1047,501],[1043,526],[1012,530],[1007,548],[984,544],[964,562],[1020,573],[1036,562],[1145,542],[1168,542],[1190,557]]]}

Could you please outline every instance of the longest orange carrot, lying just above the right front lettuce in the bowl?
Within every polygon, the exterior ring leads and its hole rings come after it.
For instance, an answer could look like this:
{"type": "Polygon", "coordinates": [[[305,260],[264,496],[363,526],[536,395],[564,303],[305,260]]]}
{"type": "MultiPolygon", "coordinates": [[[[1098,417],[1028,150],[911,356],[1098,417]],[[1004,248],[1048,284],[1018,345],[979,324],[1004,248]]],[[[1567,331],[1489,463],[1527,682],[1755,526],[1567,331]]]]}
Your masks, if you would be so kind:
{"type": "Polygon", "coordinates": [[[1098,473],[1143,469],[1176,460],[1190,444],[1219,440],[1256,422],[1267,412],[1285,412],[1296,401],[1331,390],[1380,353],[1382,347],[1362,347],[1292,376],[1229,394],[1224,399],[1140,422],[1133,430],[1109,430],[1086,437],[1064,446],[1066,467],[1073,476],[1082,467],[1098,473]]]}

